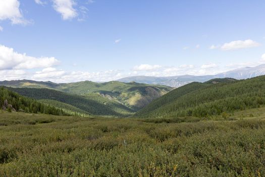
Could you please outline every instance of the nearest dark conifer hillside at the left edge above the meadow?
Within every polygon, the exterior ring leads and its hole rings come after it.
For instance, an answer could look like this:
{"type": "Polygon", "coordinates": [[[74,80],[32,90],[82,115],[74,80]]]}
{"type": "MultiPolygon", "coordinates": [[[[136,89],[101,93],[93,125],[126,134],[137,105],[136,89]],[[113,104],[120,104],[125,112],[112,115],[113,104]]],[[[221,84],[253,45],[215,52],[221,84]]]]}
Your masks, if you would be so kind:
{"type": "Polygon", "coordinates": [[[23,97],[5,89],[4,87],[0,87],[0,109],[7,110],[9,112],[20,111],[35,114],[71,115],[62,109],[42,104],[34,99],[23,97]]]}

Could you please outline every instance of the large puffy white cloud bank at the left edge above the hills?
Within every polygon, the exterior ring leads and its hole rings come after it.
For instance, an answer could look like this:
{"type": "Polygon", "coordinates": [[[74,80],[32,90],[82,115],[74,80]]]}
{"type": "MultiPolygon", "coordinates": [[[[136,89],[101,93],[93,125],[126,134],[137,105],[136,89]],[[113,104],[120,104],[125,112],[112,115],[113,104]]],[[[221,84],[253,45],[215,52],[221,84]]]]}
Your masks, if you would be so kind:
{"type": "Polygon", "coordinates": [[[31,57],[0,45],[0,70],[44,68],[58,64],[54,57],[31,57]]]}

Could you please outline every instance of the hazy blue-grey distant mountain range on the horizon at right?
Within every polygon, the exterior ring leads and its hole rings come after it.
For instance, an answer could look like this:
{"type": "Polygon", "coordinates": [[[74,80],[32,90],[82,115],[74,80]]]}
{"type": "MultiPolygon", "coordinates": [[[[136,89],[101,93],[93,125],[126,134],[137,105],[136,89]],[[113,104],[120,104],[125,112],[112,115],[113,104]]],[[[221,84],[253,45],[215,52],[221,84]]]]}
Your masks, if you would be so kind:
{"type": "Polygon", "coordinates": [[[161,84],[161,85],[168,85],[171,87],[179,87],[190,82],[204,82],[214,78],[230,77],[235,79],[246,79],[260,75],[265,75],[265,64],[258,65],[256,67],[245,67],[245,68],[235,69],[219,73],[216,75],[205,75],[205,76],[180,75],[180,76],[170,76],[170,77],[131,76],[131,77],[121,78],[118,81],[126,83],[135,81],[138,83],[161,84]]]}

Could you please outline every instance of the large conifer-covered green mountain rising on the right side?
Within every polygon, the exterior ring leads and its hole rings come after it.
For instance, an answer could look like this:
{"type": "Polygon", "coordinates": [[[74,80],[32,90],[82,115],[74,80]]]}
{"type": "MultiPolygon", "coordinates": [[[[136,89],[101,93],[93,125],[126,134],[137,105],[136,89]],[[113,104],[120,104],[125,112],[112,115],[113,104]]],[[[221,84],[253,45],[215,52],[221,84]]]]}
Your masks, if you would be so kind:
{"type": "Polygon", "coordinates": [[[213,79],[192,82],[158,98],[134,116],[210,117],[265,104],[265,76],[245,80],[213,79]]]}

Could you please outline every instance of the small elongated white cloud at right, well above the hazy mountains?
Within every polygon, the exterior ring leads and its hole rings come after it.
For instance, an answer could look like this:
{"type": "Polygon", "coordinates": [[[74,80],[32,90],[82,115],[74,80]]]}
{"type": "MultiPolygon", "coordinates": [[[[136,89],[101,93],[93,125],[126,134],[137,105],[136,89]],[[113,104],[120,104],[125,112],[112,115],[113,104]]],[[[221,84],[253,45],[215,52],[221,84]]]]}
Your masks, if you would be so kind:
{"type": "Polygon", "coordinates": [[[235,40],[235,41],[231,41],[229,43],[225,43],[221,47],[221,49],[224,51],[227,51],[227,50],[254,48],[254,47],[258,47],[258,46],[259,46],[258,42],[253,41],[251,39],[247,39],[247,40],[235,40]]]}

